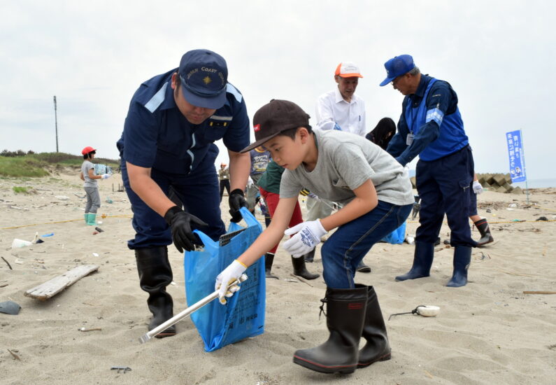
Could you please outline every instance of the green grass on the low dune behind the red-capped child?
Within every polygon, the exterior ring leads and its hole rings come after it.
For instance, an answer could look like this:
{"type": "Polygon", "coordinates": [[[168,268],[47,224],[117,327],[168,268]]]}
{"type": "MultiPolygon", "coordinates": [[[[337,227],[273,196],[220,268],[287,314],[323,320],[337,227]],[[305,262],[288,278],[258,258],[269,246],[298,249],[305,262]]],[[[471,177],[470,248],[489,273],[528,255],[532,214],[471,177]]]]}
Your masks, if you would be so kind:
{"type": "MultiPolygon", "coordinates": [[[[24,153],[22,151],[3,152],[9,156],[0,155],[0,176],[9,177],[41,177],[48,176],[48,170],[62,167],[80,167],[83,156],[68,153],[24,153]]],[[[94,158],[94,163],[108,165],[116,170],[117,160],[94,158]]]]}

